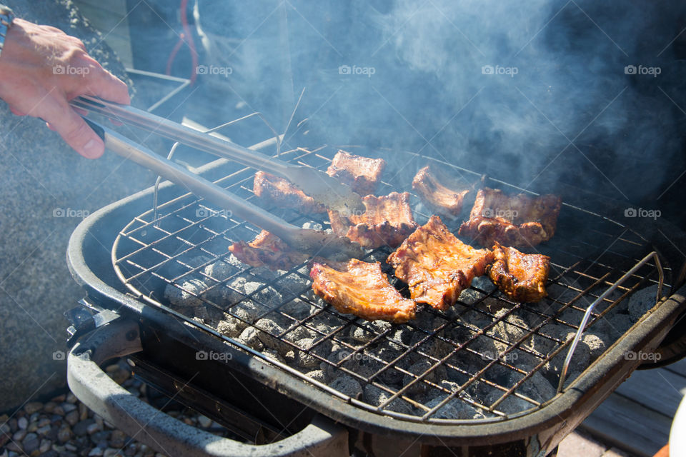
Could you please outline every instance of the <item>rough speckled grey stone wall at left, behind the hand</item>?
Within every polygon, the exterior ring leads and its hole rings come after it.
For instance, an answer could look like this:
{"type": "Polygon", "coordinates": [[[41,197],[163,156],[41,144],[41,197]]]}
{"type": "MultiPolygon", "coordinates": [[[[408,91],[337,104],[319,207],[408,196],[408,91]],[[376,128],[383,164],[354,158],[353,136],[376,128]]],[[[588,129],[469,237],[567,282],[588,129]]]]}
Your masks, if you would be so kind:
{"type": "MultiPolygon", "coordinates": [[[[71,1],[6,1],[17,16],[84,41],[126,80],[99,32],[71,1]]],[[[103,31],[106,33],[106,31],[103,31]]],[[[127,81],[130,82],[130,81],[127,81]]],[[[131,89],[132,91],[132,89],[131,89]]],[[[66,268],[66,244],[81,215],[149,186],[154,177],[106,152],[83,159],[39,119],[0,101],[0,411],[66,386],[66,320],[83,295],[66,268]],[[59,354],[59,352],[57,352],[59,354]]]]}

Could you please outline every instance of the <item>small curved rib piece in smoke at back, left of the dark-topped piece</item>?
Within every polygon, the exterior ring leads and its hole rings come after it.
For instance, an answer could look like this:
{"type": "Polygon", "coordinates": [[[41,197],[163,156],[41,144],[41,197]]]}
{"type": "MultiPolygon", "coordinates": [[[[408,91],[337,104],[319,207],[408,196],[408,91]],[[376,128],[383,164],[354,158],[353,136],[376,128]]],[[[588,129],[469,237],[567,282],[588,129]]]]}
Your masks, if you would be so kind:
{"type": "Polygon", "coordinates": [[[429,166],[425,166],[414,175],[412,189],[417,191],[419,198],[434,212],[451,218],[457,217],[462,211],[462,203],[469,194],[469,188],[465,185],[462,189],[456,189],[453,184],[451,189],[441,181],[443,179],[439,179],[429,166]]]}

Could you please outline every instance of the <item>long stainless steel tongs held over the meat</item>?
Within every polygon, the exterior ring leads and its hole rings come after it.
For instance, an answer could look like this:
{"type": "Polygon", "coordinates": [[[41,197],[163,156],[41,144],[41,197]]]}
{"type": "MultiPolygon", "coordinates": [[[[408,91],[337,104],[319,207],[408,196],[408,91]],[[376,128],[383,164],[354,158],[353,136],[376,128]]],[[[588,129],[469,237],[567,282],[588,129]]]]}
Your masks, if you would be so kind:
{"type": "MultiPolygon", "coordinates": [[[[166,138],[202,149],[211,154],[283,176],[306,194],[312,196],[314,200],[331,209],[337,211],[364,210],[362,199],[349,186],[340,183],[317,169],[287,164],[284,161],[260,154],[257,151],[252,151],[230,141],[190,129],[182,124],[154,116],[131,106],[115,104],[110,101],[86,96],[77,97],[71,101],[71,105],[108,116],[124,124],[141,127],[152,133],[166,136],[166,138]]],[[[360,258],[364,255],[358,243],[354,243],[344,236],[336,236],[320,230],[301,229],[293,224],[289,224],[278,216],[274,216],[274,214],[265,211],[259,206],[239,198],[226,189],[179,166],[175,162],[164,159],[164,157],[155,154],[135,141],[131,141],[126,136],[117,134],[115,131],[91,121],[91,119],[84,119],[91,126],[91,129],[103,139],[107,149],[124,157],[124,159],[129,159],[154,171],[174,184],[184,186],[193,194],[212,201],[212,203],[217,204],[223,209],[232,211],[234,216],[274,233],[274,235],[282,238],[282,240],[297,251],[334,260],[345,260],[351,257],[360,258]]]]}

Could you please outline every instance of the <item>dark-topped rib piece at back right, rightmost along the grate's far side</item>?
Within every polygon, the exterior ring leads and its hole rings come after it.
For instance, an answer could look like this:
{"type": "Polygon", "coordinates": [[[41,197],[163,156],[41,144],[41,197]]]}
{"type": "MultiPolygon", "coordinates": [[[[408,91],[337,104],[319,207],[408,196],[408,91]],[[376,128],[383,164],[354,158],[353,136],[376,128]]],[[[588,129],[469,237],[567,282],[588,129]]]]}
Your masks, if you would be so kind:
{"type": "Polygon", "coordinates": [[[494,241],[504,246],[535,246],[552,238],[561,205],[556,195],[507,196],[499,189],[482,189],[459,234],[483,246],[492,246],[494,241]]]}

